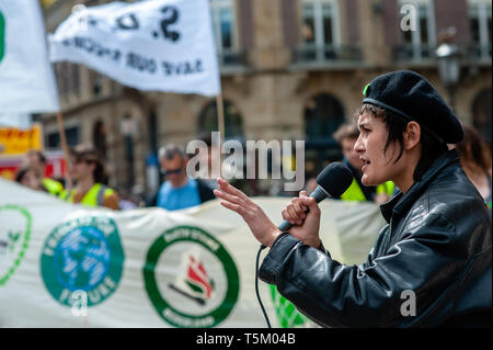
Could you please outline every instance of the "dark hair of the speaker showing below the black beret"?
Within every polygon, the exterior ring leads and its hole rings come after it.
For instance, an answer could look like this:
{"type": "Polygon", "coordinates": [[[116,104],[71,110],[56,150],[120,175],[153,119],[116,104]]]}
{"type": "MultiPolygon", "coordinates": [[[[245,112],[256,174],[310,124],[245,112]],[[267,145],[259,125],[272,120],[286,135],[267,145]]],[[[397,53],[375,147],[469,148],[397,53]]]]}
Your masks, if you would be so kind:
{"type": "MultiPolygon", "coordinates": [[[[375,117],[381,117],[383,120],[383,124],[389,133],[386,142],[386,146],[383,147],[383,153],[387,151],[390,144],[397,142],[400,145],[399,155],[393,163],[398,162],[402,157],[402,153],[404,151],[404,131],[408,127],[409,121],[401,117],[399,114],[386,110],[380,106],[376,106],[369,103],[365,103],[357,112],[357,116],[368,113],[374,115],[375,117]]],[[[420,180],[423,177],[423,173],[429,166],[443,154],[448,150],[447,145],[444,142],[440,142],[433,135],[426,133],[422,128],[421,133],[421,158],[417,162],[416,168],[414,169],[413,179],[414,181],[420,180]]]]}

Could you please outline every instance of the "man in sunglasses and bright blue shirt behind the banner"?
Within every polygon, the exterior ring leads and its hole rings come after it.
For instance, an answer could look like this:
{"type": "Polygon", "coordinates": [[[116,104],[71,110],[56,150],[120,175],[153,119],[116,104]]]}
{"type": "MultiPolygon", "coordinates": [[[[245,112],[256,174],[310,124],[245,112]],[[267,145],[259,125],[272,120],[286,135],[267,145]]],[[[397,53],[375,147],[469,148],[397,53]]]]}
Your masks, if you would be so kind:
{"type": "Polygon", "coordinates": [[[213,189],[200,179],[186,173],[188,158],[184,150],[174,144],[159,149],[159,163],[165,181],[159,189],[156,205],[167,211],[176,211],[214,200],[213,189]]]}

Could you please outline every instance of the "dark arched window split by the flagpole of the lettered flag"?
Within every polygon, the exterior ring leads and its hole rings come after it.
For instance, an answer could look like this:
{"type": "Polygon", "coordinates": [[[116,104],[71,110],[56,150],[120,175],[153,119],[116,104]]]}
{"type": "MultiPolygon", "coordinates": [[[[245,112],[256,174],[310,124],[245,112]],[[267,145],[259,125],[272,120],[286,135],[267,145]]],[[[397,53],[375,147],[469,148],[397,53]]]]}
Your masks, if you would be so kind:
{"type": "MultiPolygon", "coordinates": [[[[229,101],[225,101],[225,139],[243,140],[243,120],[238,109],[229,101]]],[[[198,117],[199,133],[219,131],[217,122],[216,101],[207,103],[198,117]]]]}

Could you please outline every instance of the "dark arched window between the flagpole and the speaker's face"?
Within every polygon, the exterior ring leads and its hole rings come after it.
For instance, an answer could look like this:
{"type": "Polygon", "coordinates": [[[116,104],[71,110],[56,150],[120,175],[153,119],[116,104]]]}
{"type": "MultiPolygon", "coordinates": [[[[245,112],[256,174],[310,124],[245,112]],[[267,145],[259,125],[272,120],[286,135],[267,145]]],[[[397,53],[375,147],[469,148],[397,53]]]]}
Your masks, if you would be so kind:
{"type": "Polygon", "coordinates": [[[337,99],[326,93],[313,97],[305,108],[307,140],[332,139],[332,134],[344,120],[344,109],[337,99]]]}

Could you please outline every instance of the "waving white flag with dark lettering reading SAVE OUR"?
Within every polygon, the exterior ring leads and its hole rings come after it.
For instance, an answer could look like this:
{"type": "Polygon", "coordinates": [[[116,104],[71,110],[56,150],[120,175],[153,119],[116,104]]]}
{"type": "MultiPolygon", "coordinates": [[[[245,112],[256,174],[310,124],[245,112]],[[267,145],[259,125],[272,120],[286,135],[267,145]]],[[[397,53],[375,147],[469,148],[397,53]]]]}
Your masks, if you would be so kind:
{"type": "Polygon", "coordinates": [[[220,93],[208,0],[83,8],[59,25],[49,43],[53,61],[83,64],[139,90],[220,93]]]}

